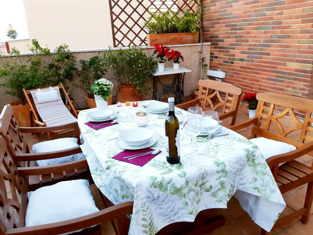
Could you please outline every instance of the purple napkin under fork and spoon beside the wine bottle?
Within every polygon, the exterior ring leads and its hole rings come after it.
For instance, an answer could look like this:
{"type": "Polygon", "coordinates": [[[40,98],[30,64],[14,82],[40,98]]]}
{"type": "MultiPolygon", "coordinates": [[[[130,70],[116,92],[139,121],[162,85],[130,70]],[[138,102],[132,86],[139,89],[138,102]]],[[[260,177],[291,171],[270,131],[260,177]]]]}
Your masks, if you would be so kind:
{"type": "MultiPolygon", "coordinates": [[[[137,165],[137,166],[143,166],[145,165],[148,161],[150,161],[152,158],[154,158],[156,155],[151,155],[151,154],[146,154],[144,156],[141,156],[141,157],[138,157],[138,158],[134,158],[134,159],[125,159],[124,157],[127,157],[127,156],[131,156],[131,155],[135,155],[135,154],[142,154],[142,153],[146,153],[146,152],[149,152],[151,150],[154,150],[154,149],[151,149],[151,148],[145,148],[145,149],[138,149],[138,150],[124,150],[123,152],[115,155],[113,157],[113,159],[116,159],[116,160],[120,160],[120,161],[123,161],[123,162],[128,162],[128,163],[131,163],[131,164],[134,164],[134,165],[137,165]]],[[[161,151],[160,151],[161,153],[161,151]]]]}

